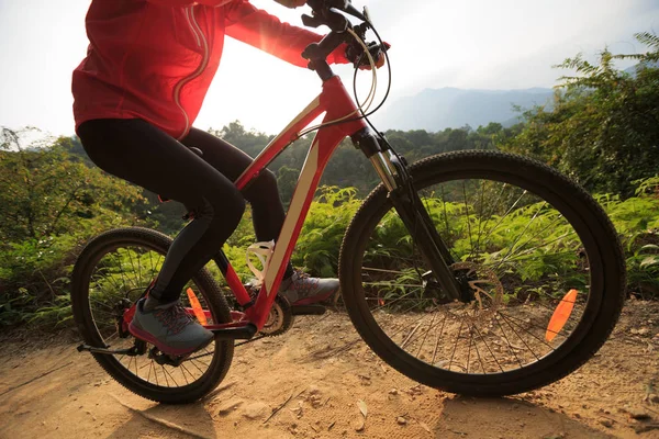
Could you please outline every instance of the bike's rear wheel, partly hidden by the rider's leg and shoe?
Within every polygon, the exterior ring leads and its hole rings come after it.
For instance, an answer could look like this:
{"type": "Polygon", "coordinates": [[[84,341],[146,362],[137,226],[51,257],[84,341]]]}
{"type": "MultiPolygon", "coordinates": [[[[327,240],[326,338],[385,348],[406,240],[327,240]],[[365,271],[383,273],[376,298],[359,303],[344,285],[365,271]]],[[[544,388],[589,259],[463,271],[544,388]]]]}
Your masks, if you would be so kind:
{"type": "MultiPolygon", "coordinates": [[[[71,278],[74,317],[85,342],[132,353],[93,353],[116,381],[136,394],[161,403],[188,403],[211,392],[224,379],[233,359],[233,342],[215,340],[180,364],[155,347],[135,339],[122,327],[124,311],[142,296],[160,271],[171,239],[145,228],[107,232],[90,243],[76,262],[71,278]]],[[[210,312],[209,324],[231,322],[226,301],[206,270],[186,290],[210,312]]],[[[189,305],[186,293],[183,306],[189,305]]]]}

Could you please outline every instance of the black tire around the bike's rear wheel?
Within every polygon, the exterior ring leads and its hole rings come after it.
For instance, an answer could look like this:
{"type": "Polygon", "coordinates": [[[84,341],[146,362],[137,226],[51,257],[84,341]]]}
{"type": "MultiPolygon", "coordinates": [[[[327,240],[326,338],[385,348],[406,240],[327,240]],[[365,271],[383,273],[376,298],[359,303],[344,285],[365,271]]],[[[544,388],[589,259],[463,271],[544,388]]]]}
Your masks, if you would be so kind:
{"type": "MultiPolygon", "coordinates": [[[[110,255],[120,248],[148,250],[150,258],[152,251],[161,256],[166,255],[170,245],[170,237],[156,230],[139,227],[112,229],[94,237],[86,245],[76,261],[71,274],[71,307],[77,327],[87,345],[100,348],[107,346],[107,342],[97,326],[97,322],[94,322],[94,315],[91,309],[91,303],[97,303],[96,300],[90,300],[90,282],[91,277],[94,275],[97,272],[96,270],[98,270],[97,263],[102,263],[100,261],[104,256],[110,255]]],[[[123,275],[122,271],[122,277],[123,275]]],[[[216,284],[210,272],[205,269],[200,270],[192,278],[192,283],[201,293],[201,300],[211,312],[212,319],[215,323],[230,323],[230,308],[220,286],[216,284]]],[[[146,286],[148,286],[148,283],[139,285],[141,290],[138,288],[133,290],[135,291],[135,294],[141,294],[146,286]]],[[[176,380],[171,372],[168,372],[164,365],[160,365],[160,368],[163,369],[161,373],[165,376],[160,375],[160,380],[165,379],[163,381],[166,381],[167,385],[158,382],[158,371],[156,368],[159,364],[154,367],[153,360],[149,364],[149,378],[145,380],[139,376],[141,371],[138,370],[137,359],[135,359],[134,373],[131,368],[132,363],[129,362],[129,367],[126,368],[119,356],[104,353],[92,354],[98,363],[114,380],[137,395],[159,403],[185,404],[194,402],[206,395],[217,386],[228,371],[233,359],[233,341],[216,339],[209,345],[209,348],[214,348],[214,351],[210,364],[203,363],[204,365],[208,365],[205,372],[194,364],[194,367],[200,370],[200,376],[192,382],[188,382],[189,379],[193,378],[193,373],[189,372],[186,374],[183,372],[187,384],[180,386],[178,384],[177,386],[169,386],[169,381],[174,380],[176,383],[176,380]],[[150,382],[152,369],[154,370],[157,381],[156,384],[150,382]],[[169,375],[169,378],[167,378],[167,375],[169,375]]],[[[192,365],[190,365],[190,368],[192,369],[192,365]]]]}

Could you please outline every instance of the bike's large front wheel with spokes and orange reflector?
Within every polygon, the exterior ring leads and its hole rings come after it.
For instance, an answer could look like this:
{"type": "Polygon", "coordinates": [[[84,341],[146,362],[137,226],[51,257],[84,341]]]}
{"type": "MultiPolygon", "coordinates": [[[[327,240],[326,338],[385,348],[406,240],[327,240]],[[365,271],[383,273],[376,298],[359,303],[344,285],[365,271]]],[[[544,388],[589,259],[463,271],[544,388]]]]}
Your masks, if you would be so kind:
{"type": "Polygon", "coordinates": [[[621,246],[595,201],[498,151],[438,155],[410,173],[470,300],[447,297],[380,185],[339,258],[346,307],[371,349],[423,384],[482,396],[546,385],[591,358],[625,291],[621,246]]]}

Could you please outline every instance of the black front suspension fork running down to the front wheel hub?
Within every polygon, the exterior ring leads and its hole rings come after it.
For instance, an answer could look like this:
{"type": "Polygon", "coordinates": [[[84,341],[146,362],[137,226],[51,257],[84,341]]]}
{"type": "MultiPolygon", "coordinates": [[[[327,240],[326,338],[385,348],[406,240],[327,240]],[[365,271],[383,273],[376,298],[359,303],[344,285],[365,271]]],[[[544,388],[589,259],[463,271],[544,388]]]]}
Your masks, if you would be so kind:
{"type": "Polygon", "coordinates": [[[448,248],[439,237],[425,205],[412,185],[412,178],[406,172],[404,164],[398,156],[387,151],[378,151],[370,156],[370,161],[382,179],[389,199],[405,227],[412,234],[412,239],[433,270],[437,282],[453,300],[467,302],[468,294],[451,272],[449,266],[455,262],[448,248]]]}

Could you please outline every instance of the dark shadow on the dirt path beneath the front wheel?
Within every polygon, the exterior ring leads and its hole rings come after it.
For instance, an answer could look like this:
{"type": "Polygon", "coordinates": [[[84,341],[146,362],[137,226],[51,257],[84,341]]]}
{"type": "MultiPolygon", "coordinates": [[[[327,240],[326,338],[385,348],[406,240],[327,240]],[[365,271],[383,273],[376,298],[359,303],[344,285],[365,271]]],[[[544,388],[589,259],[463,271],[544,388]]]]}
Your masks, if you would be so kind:
{"type": "Polygon", "coordinates": [[[444,402],[436,438],[612,438],[565,414],[512,397],[444,402]]]}

